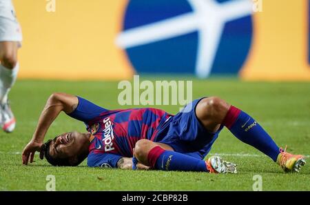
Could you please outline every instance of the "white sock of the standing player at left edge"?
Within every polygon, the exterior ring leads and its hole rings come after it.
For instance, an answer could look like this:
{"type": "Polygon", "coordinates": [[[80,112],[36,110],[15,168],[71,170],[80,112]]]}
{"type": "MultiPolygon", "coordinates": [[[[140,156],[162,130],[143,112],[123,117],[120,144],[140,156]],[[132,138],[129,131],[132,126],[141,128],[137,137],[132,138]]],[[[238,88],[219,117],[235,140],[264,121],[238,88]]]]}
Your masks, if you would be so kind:
{"type": "Polygon", "coordinates": [[[14,85],[19,72],[19,63],[13,69],[8,69],[0,64],[0,103],[8,101],[8,92],[14,85]]]}

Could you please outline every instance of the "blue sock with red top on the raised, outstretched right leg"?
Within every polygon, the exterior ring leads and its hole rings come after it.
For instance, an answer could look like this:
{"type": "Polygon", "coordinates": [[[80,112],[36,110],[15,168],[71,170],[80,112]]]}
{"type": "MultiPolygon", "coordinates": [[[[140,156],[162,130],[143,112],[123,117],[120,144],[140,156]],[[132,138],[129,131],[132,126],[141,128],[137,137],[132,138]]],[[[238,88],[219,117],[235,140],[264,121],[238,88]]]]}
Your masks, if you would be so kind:
{"type": "Polygon", "coordinates": [[[279,147],[258,122],[247,115],[247,113],[231,106],[223,121],[223,125],[225,125],[238,139],[246,144],[254,146],[276,162],[280,153],[279,147]]]}

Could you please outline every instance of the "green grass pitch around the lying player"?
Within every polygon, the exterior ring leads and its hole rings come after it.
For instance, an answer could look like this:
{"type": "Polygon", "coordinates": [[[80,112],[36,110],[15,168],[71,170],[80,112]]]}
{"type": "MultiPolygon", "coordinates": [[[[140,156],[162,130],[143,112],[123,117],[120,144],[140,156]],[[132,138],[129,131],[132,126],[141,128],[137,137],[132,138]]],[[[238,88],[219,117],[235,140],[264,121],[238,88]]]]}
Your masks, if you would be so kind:
{"type": "MultiPolygon", "coordinates": [[[[193,79],[193,97],[220,96],[254,117],[288,151],[306,155],[300,173],[283,173],[258,150],[238,141],[224,129],[211,149],[238,164],[236,175],[165,171],[134,171],[78,167],[52,167],[35,156],[21,164],[21,151],[34,132],[46,99],[52,92],[80,95],[106,108],[118,106],[117,81],[25,81],[10,92],[17,128],[0,132],[0,190],[44,191],[46,176],[56,177],[56,191],[252,191],[254,175],[262,176],[263,191],[310,191],[310,83],[244,82],[237,79],[193,79]]],[[[178,106],[155,106],[176,113],[178,106]]],[[[45,139],[70,130],[83,132],[83,123],[64,114],[52,124],[45,139]]],[[[209,156],[208,155],[208,156],[209,156]]]]}

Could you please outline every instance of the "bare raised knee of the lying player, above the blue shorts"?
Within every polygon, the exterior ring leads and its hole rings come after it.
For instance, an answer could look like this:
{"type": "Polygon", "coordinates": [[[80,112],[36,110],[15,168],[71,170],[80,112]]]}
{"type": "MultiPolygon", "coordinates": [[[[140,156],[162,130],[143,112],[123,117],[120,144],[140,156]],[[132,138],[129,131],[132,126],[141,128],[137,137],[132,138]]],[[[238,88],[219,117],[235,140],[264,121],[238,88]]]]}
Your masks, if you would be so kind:
{"type": "Polygon", "coordinates": [[[202,99],[200,109],[203,109],[208,117],[216,117],[227,113],[229,104],[225,100],[220,99],[220,97],[207,97],[202,99]]]}

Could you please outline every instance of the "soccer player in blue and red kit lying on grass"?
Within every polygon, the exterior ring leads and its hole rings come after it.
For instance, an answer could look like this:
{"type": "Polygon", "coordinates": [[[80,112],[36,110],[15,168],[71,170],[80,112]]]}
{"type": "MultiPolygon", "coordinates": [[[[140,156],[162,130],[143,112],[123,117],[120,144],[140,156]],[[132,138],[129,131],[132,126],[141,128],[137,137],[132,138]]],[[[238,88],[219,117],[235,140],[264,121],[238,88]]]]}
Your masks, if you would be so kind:
{"type": "Polygon", "coordinates": [[[252,117],[218,97],[203,97],[170,115],[155,108],[107,110],[81,97],[55,93],[43,109],[32,140],[23,149],[23,164],[40,152],[54,166],[87,166],[236,173],[236,164],[204,157],[226,126],[285,171],[298,172],[302,155],[279,148],[252,117]],[[64,133],[43,144],[48,128],[64,111],[85,122],[87,133],[64,133]]]}

